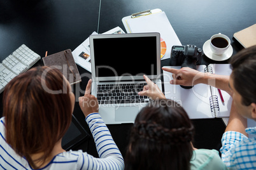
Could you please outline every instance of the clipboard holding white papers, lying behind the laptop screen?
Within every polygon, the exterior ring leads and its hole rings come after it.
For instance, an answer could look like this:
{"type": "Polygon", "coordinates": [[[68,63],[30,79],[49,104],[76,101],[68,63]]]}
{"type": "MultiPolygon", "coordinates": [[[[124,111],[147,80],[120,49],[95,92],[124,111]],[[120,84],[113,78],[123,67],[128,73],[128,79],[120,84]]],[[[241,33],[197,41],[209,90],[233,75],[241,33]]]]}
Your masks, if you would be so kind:
{"type": "Polygon", "coordinates": [[[159,32],[161,60],[170,58],[171,48],[181,46],[166,13],[160,9],[146,10],[122,18],[127,33],[159,32]]]}

